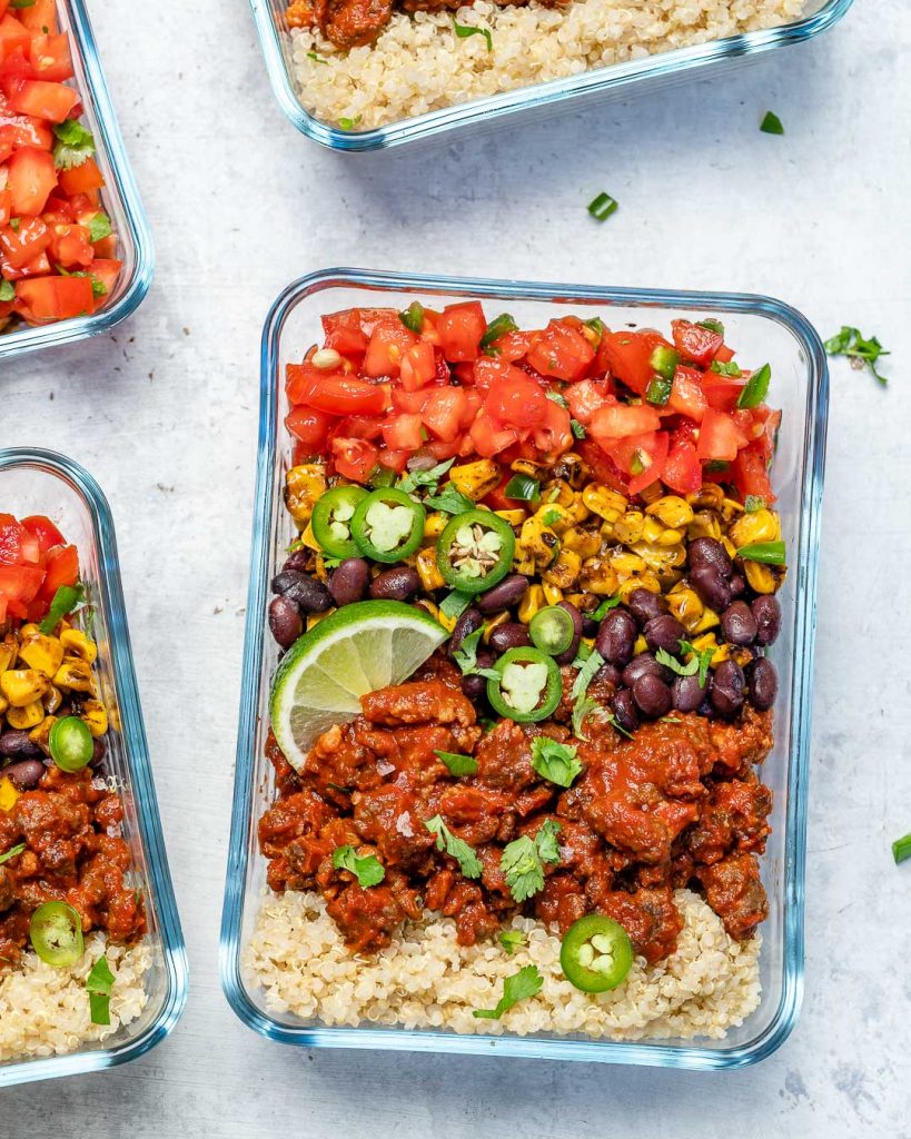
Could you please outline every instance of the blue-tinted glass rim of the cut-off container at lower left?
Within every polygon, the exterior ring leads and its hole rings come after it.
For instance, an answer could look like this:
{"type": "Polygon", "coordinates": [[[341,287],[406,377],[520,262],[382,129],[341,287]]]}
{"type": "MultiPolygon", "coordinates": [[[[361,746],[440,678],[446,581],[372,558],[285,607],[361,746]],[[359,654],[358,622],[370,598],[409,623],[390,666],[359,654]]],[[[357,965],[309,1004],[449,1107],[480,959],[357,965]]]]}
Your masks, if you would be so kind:
{"type": "Polygon", "coordinates": [[[99,1072],[143,1056],[173,1030],[183,1013],[189,991],[187,950],[178,916],[171,871],[167,866],[148,741],[139,703],[110,507],[101,487],[88,470],[55,451],[33,448],[0,449],[0,470],[7,467],[50,469],[74,486],[89,507],[98,549],[101,604],[110,636],[110,663],[121,702],[121,730],[124,751],[129,757],[133,794],[138,806],[139,831],[148,860],[151,888],[158,912],[167,977],[167,998],[157,1018],[142,1035],[122,1046],[115,1044],[109,1049],[93,1049],[74,1052],[71,1056],[52,1056],[47,1059],[27,1059],[0,1065],[0,1088],[28,1083],[34,1080],[99,1072]]]}

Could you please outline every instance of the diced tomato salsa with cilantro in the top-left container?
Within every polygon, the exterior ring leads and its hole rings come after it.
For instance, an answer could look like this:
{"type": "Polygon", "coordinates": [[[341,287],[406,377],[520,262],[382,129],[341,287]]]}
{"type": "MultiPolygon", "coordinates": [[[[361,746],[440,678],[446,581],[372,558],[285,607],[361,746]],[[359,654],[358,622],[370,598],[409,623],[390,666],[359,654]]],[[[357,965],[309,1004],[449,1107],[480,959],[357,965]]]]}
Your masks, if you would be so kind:
{"type": "Polygon", "coordinates": [[[95,312],[123,262],[55,0],[0,0],[0,329],[95,312]]]}

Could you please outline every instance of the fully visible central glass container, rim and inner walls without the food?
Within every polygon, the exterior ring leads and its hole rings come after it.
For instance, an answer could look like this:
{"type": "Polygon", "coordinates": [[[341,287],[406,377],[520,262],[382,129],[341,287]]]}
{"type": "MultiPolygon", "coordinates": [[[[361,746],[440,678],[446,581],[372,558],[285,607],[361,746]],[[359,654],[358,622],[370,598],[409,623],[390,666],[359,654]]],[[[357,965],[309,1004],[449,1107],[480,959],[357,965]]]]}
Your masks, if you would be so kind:
{"type": "Polygon", "coordinates": [[[594,286],[527,284],[417,277],[361,270],[327,270],[304,277],[279,296],[266,320],[262,344],[260,445],[253,527],[244,678],[231,846],[221,935],[224,992],[252,1029],[305,1047],[397,1048],[421,1051],[491,1052],[585,1059],[667,1067],[728,1068],[754,1063],[786,1039],[797,1019],[803,988],[804,858],[807,768],[812,704],[819,510],[822,492],[828,372],[822,344],[794,309],[762,296],[723,293],[651,292],[594,286]],[[782,428],[773,466],[782,538],[791,551],[782,605],[782,631],[773,650],[780,675],[775,703],[775,746],[764,764],[774,792],[772,835],[762,860],[769,918],[762,926],[762,1003],[721,1042],[613,1042],[581,1035],[486,1036],[389,1027],[325,1027],[293,1014],[276,1014],[265,994],[244,974],[241,958],[265,896],[266,861],[256,842],[256,822],[270,805],[274,784],[264,755],[269,727],[270,677],[278,649],[266,636],[269,581],[296,538],[285,510],[282,487],[292,466],[285,369],[321,341],[320,316],[353,306],[402,310],[417,300],[441,309],[478,300],[487,314],[508,310],[519,327],[577,313],[600,316],[610,327],[627,322],[667,328],[674,318],[715,317],[740,359],[772,367],[770,404],[781,408],[782,428]]]}

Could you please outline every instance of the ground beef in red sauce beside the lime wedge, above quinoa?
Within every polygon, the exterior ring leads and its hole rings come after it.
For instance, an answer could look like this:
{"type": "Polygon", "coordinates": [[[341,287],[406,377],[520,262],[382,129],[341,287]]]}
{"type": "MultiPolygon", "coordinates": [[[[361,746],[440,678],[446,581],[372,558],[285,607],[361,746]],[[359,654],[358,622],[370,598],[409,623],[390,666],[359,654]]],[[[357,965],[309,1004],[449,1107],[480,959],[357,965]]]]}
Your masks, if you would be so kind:
{"type": "Polygon", "coordinates": [[[531,759],[537,735],[571,741],[565,723],[506,720],[482,735],[459,681],[437,656],[412,682],[371,693],[361,716],[317,740],[299,775],[270,736],[278,800],[258,834],[272,890],[319,890],[356,951],[388,945],[425,908],[454,918],[463,945],[496,933],[517,910],[560,932],[599,912],[657,961],[676,945],[673,891],[684,885],[703,890],[733,937],[764,919],[756,855],[772,793],[754,764],[772,747],[770,712],[746,707],[732,723],[678,714],[642,724],[633,739],[590,718],[590,738],[575,741],[583,771],[563,789],[541,779],[531,759]],[[454,778],[436,751],[474,755],[477,773],[454,778]],[[437,814],[475,849],[479,879],[435,849],[424,823],[437,814]],[[559,862],[545,863],[544,888],[517,906],[501,851],[534,837],[547,819],[560,827],[559,862]],[[380,885],[362,890],[333,867],[333,852],[346,844],[380,860],[380,885]]]}

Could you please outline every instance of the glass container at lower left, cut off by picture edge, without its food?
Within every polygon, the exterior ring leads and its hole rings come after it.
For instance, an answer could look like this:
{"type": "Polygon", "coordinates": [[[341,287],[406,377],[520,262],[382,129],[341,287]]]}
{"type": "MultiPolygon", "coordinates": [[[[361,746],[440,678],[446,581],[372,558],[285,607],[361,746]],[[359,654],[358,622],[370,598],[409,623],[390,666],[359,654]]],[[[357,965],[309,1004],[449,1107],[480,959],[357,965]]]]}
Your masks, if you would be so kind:
{"type": "Polygon", "coordinates": [[[151,967],[140,1017],[102,1043],[66,1056],[0,1064],[0,1088],[30,1080],[98,1072],[142,1056],[171,1032],[187,1000],[188,972],[171,875],[167,869],[146,730],[139,706],[130,633],[123,607],[117,546],[110,510],[92,476],[50,451],[0,450],[0,511],[24,517],[44,514],[79,548],[80,575],[98,644],[96,671],[108,708],[107,773],[120,782],[125,808],[124,837],[148,911],[151,967]],[[118,727],[117,727],[118,724],[118,727]]]}

